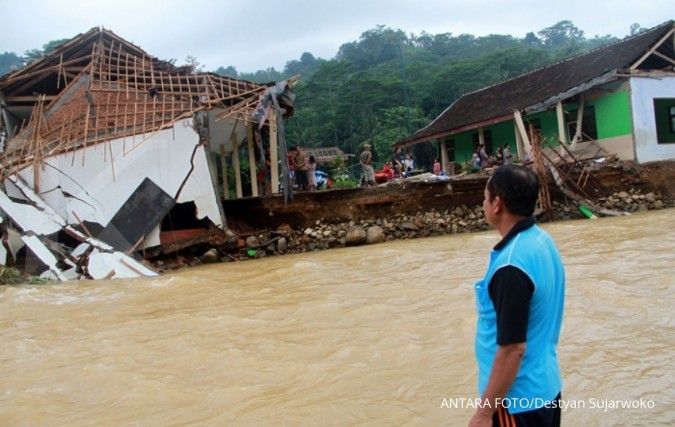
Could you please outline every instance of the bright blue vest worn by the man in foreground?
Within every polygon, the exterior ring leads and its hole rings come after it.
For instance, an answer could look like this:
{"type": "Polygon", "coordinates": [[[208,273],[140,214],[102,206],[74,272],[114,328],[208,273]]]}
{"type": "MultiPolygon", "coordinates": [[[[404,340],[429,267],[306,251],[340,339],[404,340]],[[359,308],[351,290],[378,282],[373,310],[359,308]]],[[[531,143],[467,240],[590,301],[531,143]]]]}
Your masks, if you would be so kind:
{"type": "Polygon", "coordinates": [[[527,316],[525,353],[504,401],[509,412],[517,414],[544,406],[562,389],[556,347],[562,326],[565,272],[553,239],[532,218],[516,224],[492,250],[485,277],[475,285],[480,396],[487,387],[498,349],[497,315],[489,284],[495,272],[504,267],[515,267],[524,273],[534,288],[527,316]]]}

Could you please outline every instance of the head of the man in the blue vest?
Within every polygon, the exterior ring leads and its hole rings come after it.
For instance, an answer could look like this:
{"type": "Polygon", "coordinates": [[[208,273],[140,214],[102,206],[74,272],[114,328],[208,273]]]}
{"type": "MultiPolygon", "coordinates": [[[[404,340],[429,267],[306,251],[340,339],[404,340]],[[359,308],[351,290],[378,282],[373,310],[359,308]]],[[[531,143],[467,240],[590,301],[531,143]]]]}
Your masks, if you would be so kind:
{"type": "Polygon", "coordinates": [[[485,219],[495,225],[504,214],[529,217],[538,197],[539,178],[534,172],[524,166],[500,166],[485,186],[485,219]]]}

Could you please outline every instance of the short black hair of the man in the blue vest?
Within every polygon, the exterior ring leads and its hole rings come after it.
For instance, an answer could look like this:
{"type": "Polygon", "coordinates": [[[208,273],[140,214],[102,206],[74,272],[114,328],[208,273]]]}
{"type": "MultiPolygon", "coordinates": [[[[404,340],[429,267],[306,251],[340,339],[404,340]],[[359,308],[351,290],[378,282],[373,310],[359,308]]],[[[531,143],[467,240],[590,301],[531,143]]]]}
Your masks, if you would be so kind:
{"type": "Polygon", "coordinates": [[[514,215],[529,217],[539,197],[539,178],[525,166],[498,167],[487,183],[490,200],[499,196],[514,215]]]}

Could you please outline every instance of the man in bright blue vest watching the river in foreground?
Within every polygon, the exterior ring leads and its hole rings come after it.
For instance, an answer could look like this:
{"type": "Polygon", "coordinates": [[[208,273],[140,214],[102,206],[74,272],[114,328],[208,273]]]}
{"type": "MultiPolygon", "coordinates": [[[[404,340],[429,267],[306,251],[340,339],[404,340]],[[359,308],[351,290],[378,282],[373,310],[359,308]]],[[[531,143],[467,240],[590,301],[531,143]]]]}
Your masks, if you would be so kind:
{"type": "Polygon", "coordinates": [[[559,426],[562,380],[556,347],[565,271],[553,239],[532,216],[539,180],[526,167],[502,166],[484,193],[485,219],[502,239],[475,285],[483,404],[469,426],[559,426]]]}

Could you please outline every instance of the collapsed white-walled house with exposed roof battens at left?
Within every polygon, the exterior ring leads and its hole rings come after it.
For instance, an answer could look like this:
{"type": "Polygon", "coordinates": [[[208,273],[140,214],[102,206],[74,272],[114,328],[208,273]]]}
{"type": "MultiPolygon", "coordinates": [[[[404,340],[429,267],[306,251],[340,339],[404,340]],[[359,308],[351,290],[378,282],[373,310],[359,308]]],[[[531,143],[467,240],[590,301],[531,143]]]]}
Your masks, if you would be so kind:
{"type": "Polygon", "coordinates": [[[0,264],[147,276],[135,251],[222,234],[228,168],[244,194],[242,155],[247,194],[288,188],[278,158],[295,81],[195,73],[99,28],[0,78],[0,264]]]}

